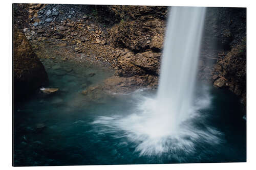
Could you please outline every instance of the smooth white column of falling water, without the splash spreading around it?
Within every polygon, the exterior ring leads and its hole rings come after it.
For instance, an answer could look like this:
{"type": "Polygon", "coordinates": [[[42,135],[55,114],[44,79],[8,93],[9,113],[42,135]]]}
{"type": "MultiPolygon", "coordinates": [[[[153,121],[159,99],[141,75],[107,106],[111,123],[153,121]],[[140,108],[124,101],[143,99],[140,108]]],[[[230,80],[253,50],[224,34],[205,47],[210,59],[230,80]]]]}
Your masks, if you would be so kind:
{"type": "Polygon", "coordinates": [[[204,7],[170,9],[157,101],[159,114],[170,114],[174,124],[186,119],[191,109],[204,15],[204,7]]]}

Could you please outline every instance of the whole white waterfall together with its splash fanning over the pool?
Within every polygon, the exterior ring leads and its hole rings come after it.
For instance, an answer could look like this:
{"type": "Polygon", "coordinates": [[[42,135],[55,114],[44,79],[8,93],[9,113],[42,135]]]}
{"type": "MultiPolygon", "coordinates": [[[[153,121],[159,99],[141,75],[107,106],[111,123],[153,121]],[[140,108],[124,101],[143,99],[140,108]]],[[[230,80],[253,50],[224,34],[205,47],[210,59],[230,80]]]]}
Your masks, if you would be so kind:
{"type": "Polygon", "coordinates": [[[98,117],[93,124],[102,127],[97,129],[100,133],[127,138],[137,144],[135,151],[140,155],[178,157],[194,152],[195,143],[221,142],[221,132],[194,125],[203,122],[198,110],[210,103],[207,93],[198,99],[193,96],[204,16],[204,7],[170,9],[157,96],[146,98],[137,92],[135,98],[141,102],[132,114],[98,117]]]}

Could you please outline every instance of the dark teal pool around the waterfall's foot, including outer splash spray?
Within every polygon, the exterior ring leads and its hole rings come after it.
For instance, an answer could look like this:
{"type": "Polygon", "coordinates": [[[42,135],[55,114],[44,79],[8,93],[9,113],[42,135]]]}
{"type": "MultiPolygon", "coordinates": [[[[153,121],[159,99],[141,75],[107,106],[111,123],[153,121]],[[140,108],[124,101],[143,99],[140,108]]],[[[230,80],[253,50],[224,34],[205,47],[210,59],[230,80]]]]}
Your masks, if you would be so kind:
{"type": "Polygon", "coordinates": [[[205,93],[199,87],[195,115],[181,125],[178,135],[156,140],[163,146],[157,149],[155,143],[143,144],[152,142],[143,129],[131,129],[139,127],[140,106],[153,100],[156,91],[104,94],[92,101],[81,90],[110,77],[112,71],[71,61],[42,62],[49,86],[59,91],[37,93],[14,105],[15,166],[246,161],[245,112],[227,90],[206,88],[205,93]]]}

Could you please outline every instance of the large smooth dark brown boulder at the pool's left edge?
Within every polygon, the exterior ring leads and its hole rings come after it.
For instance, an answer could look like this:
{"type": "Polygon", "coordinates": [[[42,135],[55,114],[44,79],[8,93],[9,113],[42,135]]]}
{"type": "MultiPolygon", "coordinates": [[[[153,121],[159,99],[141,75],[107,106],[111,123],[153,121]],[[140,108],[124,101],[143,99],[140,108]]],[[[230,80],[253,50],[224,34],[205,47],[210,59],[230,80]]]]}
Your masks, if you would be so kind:
{"type": "Polygon", "coordinates": [[[48,82],[44,65],[33,52],[25,35],[13,32],[14,100],[21,100],[48,82]]]}

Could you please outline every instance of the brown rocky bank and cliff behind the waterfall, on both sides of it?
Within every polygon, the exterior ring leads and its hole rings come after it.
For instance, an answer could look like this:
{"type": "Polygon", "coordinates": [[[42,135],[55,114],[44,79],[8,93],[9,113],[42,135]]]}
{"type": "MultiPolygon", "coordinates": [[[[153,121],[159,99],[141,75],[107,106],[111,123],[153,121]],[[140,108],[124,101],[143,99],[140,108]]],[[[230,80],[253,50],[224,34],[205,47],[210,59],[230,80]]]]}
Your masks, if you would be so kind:
{"type": "MultiPolygon", "coordinates": [[[[14,4],[13,9],[14,26],[39,58],[54,60],[47,53],[52,48],[63,61],[114,69],[104,81],[106,90],[157,88],[167,7],[14,4]]],[[[208,8],[198,79],[230,89],[246,105],[246,9],[208,8]]]]}

